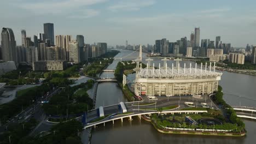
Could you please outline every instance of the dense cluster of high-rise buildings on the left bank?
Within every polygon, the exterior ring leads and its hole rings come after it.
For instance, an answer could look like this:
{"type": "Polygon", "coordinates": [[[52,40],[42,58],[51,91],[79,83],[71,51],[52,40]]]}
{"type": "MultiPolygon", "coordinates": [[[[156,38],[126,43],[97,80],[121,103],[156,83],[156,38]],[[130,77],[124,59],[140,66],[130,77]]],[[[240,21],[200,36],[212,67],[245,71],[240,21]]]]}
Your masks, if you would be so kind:
{"type": "Polygon", "coordinates": [[[71,35],[54,35],[53,23],[44,23],[44,33],[34,35],[33,39],[22,29],[21,42],[22,45],[17,46],[13,30],[2,28],[0,59],[14,61],[16,65],[26,62],[33,65],[34,70],[62,70],[66,62],[79,63],[107,52],[107,43],[85,44],[83,35],[73,40],[71,35]],[[56,66],[60,62],[61,65],[56,66]],[[43,63],[44,68],[37,67],[43,63]]]}

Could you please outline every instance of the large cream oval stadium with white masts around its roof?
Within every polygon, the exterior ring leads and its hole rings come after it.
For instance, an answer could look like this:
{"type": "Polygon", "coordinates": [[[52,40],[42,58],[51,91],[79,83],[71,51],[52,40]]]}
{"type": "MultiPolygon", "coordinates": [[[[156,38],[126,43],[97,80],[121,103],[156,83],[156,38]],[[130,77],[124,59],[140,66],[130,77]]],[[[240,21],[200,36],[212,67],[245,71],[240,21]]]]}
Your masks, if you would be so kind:
{"type": "MultiPolygon", "coordinates": [[[[218,90],[218,81],[222,73],[215,71],[215,63],[213,70],[211,67],[202,67],[201,69],[180,67],[167,67],[166,61],[164,67],[156,69],[149,67],[148,61],[146,68],[139,68],[139,64],[135,68],[135,94],[138,96],[174,96],[174,95],[205,95],[211,94],[218,90]]],[[[211,65],[211,64],[210,64],[211,65]]]]}

